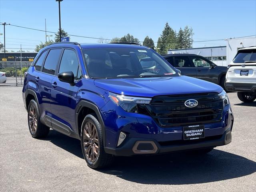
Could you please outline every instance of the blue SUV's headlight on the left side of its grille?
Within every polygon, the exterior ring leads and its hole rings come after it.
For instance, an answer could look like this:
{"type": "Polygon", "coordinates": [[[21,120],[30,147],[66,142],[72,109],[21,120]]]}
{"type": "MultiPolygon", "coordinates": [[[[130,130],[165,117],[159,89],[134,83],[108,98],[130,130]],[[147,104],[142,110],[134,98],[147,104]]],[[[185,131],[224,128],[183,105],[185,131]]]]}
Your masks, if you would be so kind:
{"type": "Polygon", "coordinates": [[[109,92],[109,97],[114,104],[119,105],[128,112],[134,113],[138,113],[137,104],[149,104],[151,101],[151,98],[125,96],[111,92],[109,92]]]}

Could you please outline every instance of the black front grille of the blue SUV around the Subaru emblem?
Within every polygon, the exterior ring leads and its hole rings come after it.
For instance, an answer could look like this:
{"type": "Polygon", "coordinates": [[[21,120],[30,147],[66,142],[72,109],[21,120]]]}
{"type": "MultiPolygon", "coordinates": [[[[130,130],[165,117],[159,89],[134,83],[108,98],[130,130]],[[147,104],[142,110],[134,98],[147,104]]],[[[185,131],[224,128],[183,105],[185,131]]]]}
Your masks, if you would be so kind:
{"type": "Polygon", "coordinates": [[[218,93],[156,96],[145,105],[148,113],[162,127],[220,122],[223,101],[218,93]],[[185,106],[185,101],[195,99],[198,105],[185,106]]]}

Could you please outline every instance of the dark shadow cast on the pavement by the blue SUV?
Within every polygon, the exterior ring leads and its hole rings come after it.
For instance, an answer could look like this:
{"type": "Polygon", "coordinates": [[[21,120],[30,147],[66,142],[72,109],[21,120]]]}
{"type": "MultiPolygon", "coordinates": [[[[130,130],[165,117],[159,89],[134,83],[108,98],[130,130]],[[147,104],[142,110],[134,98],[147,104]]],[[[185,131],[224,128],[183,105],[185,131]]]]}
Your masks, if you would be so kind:
{"type": "MultiPolygon", "coordinates": [[[[47,138],[54,145],[83,158],[80,141],[55,130],[47,138]]],[[[246,176],[256,172],[256,162],[214,149],[204,155],[187,152],[152,156],[116,157],[109,168],[98,170],[141,184],[197,184],[246,176]]]]}

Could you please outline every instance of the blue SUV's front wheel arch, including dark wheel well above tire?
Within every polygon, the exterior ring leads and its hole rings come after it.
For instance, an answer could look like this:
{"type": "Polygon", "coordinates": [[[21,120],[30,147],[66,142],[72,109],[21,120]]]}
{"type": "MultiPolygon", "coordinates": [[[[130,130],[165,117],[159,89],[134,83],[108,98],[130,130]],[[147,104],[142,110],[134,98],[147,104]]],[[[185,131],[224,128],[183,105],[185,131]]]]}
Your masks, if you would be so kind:
{"type": "Polygon", "coordinates": [[[76,131],[80,138],[81,136],[81,126],[82,122],[86,115],[88,114],[95,114],[95,118],[100,122],[100,125],[102,126],[102,135],[103,135],[103,144],[106,146],[106,135],[105,135],[105,126],[102,119],[102,116],[100,115],[100,110],[98,107],[86,100],[81,100],[77,106],[76,106],[76,131]]]}

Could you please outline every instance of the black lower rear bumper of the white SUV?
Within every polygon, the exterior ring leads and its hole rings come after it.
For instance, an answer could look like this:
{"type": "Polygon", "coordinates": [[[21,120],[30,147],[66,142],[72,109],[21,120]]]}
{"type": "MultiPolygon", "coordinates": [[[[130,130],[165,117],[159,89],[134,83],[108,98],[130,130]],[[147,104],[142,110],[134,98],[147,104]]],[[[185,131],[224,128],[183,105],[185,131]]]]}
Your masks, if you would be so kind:
{"type": "Polygon", "coordinates": [[[228,91],[256,93],[256,83],[226,82],[225,88],[228,91]]]}

